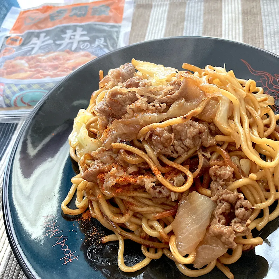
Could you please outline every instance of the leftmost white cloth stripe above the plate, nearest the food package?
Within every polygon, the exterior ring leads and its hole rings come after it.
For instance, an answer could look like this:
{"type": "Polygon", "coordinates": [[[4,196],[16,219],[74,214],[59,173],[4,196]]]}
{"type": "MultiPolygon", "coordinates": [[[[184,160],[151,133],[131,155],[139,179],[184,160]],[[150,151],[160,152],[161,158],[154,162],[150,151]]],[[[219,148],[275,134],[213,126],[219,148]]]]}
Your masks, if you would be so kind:
{"type": "Polygon", "coordinates": [[[152,4],[149,23],[145,35],[145,40],[160,39],[164,37],[169,3],[158,3],[154,1],[152,4]]]}

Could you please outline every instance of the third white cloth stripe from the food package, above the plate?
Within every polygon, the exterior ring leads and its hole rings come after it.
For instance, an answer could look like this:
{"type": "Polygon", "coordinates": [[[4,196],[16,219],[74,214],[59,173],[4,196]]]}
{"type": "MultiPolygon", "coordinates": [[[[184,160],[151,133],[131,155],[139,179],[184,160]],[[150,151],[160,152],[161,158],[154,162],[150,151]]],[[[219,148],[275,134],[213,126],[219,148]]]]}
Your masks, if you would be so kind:
{"type": "Polygon", "coordinates": [[[222,0],[222,37],[242,42],[241,0],[222,0]]]}

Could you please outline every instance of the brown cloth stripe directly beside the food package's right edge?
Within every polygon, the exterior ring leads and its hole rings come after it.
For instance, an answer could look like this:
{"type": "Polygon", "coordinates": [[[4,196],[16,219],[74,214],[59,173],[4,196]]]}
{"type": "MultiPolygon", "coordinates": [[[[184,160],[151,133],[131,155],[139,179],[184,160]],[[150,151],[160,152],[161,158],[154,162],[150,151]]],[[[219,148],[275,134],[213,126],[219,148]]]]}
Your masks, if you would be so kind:
{"type": "Polygon", "coordinates": [[[129,43],[144,41],[152,4],[135,4],[129,43]]]}

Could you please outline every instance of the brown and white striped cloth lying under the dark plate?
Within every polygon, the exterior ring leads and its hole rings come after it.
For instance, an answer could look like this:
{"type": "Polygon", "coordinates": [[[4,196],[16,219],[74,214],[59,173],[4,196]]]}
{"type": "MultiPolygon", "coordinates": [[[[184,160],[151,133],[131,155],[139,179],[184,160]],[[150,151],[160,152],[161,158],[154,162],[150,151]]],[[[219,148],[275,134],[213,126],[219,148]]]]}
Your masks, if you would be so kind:
{"type": "MultiPolygon", "coordinates": [[[[279,54],[279,0],[135,0],[129,43],[172,36],[236,40],[279,54]]],[[[0,123],[0,185],[22,126],[0,123]]],[[[8,244],[0,212],[0,279],[26,278],[8,244]]]]}

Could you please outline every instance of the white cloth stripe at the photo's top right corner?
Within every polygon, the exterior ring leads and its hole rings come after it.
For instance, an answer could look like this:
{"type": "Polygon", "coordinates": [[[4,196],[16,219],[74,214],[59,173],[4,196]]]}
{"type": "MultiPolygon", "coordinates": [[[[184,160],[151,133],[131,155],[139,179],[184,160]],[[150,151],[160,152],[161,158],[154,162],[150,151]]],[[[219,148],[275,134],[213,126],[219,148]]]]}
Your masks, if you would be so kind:
{"type": "Polygon", "coordinates": [[[261,0],[264,48],[279,54],[279,0],[261,0]]]}

